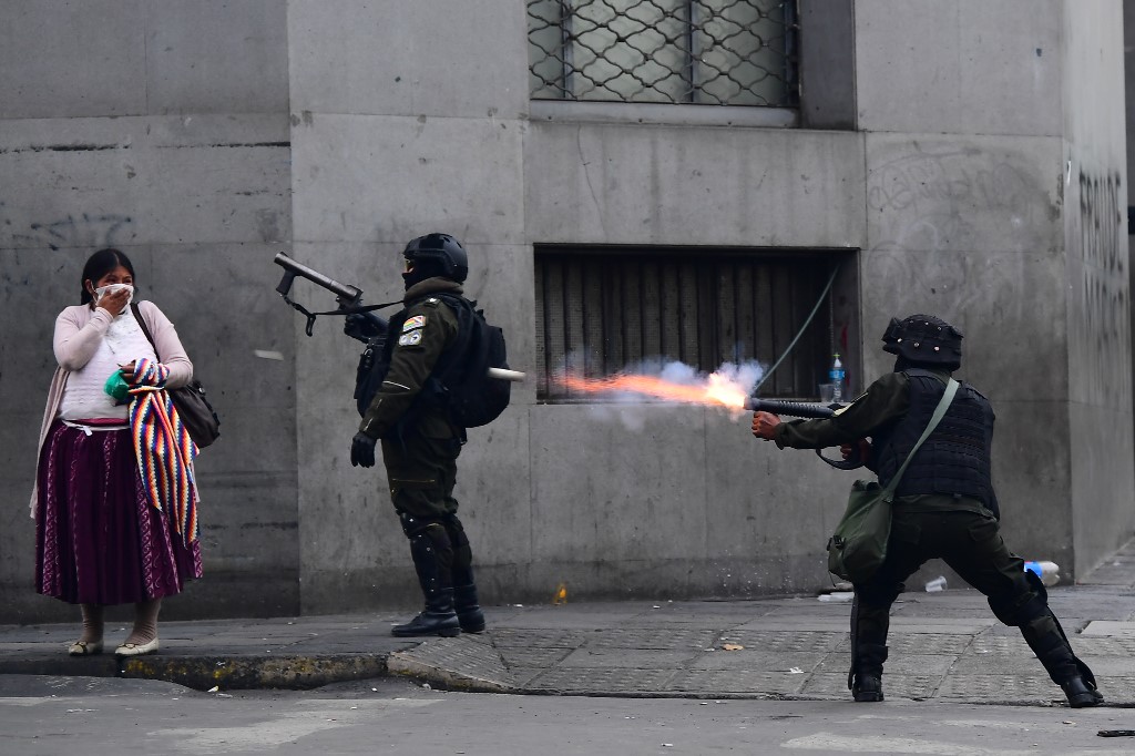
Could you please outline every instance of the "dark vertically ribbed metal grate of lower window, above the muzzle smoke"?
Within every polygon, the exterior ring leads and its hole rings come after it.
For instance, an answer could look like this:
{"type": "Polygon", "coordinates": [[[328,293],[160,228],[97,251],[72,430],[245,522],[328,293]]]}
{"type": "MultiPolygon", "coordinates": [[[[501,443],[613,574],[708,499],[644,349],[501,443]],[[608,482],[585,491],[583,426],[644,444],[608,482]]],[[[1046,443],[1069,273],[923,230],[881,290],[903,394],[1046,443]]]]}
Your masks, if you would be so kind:
{"type": "MultiPolygon", "coordinates": [[[[723,362],[768,367],[807,319],[838,264],[821,252],[537,247],[537,398],[581,401],[556,381],[654,359],[709,372],[723,362]]],[[[763,396],[814,397],[831,358],[831,299],[763,396]]]]}

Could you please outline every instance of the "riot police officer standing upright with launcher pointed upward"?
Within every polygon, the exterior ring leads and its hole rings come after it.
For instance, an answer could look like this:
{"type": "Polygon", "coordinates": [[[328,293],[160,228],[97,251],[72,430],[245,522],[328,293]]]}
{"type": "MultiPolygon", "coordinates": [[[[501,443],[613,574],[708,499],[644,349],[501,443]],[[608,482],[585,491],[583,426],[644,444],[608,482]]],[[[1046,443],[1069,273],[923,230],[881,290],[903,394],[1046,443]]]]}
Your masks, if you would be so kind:
{"type": "MultiPolygon", "coordinates": [[[[389,367],[351,444],[351,464],[375,464],[382,443],[390,498],[410,539],[424,610],[393,635],[445,636],[481,632],[485,615],[473,582],[472,549],[453,488],[464,429],[434,395],[431,377],[454,359],[460,325],[446,296],[461,296],[469,274],[464,247],[448,234],[411,241],[405,258],[405,309],[388,326],[389,367]]],[[[365,328],[353,319],[347,330],[365,328]]]]}

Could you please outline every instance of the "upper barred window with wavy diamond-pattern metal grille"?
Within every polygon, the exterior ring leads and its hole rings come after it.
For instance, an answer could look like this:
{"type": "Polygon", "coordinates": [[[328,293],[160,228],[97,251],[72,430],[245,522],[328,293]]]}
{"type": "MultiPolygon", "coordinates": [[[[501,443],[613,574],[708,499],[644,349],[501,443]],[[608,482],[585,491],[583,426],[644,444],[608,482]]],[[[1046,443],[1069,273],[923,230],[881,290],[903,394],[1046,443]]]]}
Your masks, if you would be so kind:
{"type": "Polygon", "coordinates": [[[797,0],[528,0],[535,100],[796,107],[797,0]]]}

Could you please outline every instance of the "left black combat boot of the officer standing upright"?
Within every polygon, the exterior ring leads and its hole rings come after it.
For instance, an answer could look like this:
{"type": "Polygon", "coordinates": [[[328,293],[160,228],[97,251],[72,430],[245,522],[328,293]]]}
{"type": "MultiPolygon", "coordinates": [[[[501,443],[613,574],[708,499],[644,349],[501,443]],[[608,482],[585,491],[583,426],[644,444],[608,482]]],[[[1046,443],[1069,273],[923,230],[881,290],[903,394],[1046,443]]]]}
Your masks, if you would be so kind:
{"type": "Polygon", "coordinates": [[[426,596],[426,608],[405,624],[396,624],[390,633],[398,638],[442,636],[453,638],[461,633],[457,614],[453,610],[453,548],[445,529],[430,523],[410,537],[410,554],[414,561],[418,582],[426,596]]]}

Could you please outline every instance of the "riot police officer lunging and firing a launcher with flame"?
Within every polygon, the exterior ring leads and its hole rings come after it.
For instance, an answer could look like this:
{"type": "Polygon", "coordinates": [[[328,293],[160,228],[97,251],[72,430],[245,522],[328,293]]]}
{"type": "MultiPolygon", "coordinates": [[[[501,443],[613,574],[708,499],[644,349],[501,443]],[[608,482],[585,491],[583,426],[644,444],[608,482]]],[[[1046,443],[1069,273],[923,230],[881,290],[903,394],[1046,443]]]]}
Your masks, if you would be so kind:
{"type": "MultiPolygon", "coordinates": [[[[894,371],[833,418],[781,422],[775,414],[755,412],[753,434],[780,448],[840,446],[848,456],[858,447],[886,486],[961,367],[961,333],[933,316],[892,319],[883,350],[897,355],[894,371]]],[[[891,604],[902,581],[934,557],[982,591],[1001,622],[1020,629],[1070,706],[1103,700],[1092,671],[1073,653],[1049,608],[1043,583],[1001,539],[990,476],[993,419],[989,401],[962,383],[899,481],[885,561],[874,577],[854,586],[848,687],[857,702],[883,700],[891,604]]]]}

